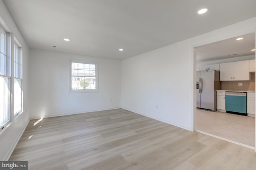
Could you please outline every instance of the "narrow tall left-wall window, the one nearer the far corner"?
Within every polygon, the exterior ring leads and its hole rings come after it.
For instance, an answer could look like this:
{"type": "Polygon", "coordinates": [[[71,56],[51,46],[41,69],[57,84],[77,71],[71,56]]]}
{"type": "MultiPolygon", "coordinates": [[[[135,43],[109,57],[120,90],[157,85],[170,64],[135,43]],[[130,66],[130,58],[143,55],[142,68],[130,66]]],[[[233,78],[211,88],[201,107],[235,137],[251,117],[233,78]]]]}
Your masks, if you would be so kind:
{"type": "Polygon", "coordinates": [[[22,111],[22,49],[14,43],[14,115],[22,111]]]}

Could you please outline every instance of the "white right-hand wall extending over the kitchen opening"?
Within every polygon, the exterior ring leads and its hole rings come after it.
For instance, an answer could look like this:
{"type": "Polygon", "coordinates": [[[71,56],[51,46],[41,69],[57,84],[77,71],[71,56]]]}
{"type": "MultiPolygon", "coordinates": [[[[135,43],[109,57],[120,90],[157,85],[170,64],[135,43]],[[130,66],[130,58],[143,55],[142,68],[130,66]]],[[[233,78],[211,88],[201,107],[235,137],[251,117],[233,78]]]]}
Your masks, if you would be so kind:
{"type": "Polygon", "coordinates": [[[255,31],[256,18],[252,18],[123,60],[122,108],[193,130],[193,47],[255,31]]]}

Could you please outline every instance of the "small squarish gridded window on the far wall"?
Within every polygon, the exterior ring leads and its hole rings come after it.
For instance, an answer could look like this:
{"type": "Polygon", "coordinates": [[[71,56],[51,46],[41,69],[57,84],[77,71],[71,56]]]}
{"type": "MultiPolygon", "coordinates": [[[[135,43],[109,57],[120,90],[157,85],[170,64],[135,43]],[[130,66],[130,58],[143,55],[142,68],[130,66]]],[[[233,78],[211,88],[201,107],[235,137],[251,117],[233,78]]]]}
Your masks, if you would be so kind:
{"type": "Polygon", "coordinates": [[[98,63],[71,61],[71,92],[98,91],[98,63]]]}

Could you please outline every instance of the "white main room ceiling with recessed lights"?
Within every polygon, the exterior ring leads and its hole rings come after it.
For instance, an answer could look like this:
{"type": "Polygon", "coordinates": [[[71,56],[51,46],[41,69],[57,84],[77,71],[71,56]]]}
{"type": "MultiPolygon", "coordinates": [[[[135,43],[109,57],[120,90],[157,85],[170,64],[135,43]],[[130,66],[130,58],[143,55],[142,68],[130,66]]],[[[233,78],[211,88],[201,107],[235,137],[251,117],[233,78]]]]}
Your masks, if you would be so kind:
{"type": "Polygon", "coordinates": [[[3,2],[31,49],[120,60],[256,16],[256,0],[3,2]]]}

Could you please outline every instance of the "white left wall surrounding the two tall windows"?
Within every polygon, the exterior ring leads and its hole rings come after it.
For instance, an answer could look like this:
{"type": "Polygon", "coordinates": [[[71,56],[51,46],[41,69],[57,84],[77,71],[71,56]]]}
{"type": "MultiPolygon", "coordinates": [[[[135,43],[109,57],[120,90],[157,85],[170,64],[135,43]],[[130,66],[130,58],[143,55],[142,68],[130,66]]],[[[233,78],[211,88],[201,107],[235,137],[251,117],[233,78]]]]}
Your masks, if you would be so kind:
{"type": "Polygon", "coordinates": [[[20,31],[16,27],[10,13],[6,9],[4,3],[2,0],[0,0],[0,17],[10,31],[13,33],[13,35],[18,39],[18,41],[22,45],[22,52],[23,52],[23,107],[24,111],[21,113],[12,123],[9,127],[7,127],[4,131],[1,131],[0,134],[0,160],[8,160],[10,155],[12,154],[12,151],[14,150],[14,147],[16,146],[16,143],[18,143],[18,140],[20,139],[24,128],[26,127],[28,121],[29,121],[29,109],[28,109],[28,90],[29,90],[29,84],[28,84],[28,58],[29,58],[29,49],[28,45],[24,41],[22,35],[20,34],[20,31]]]}

